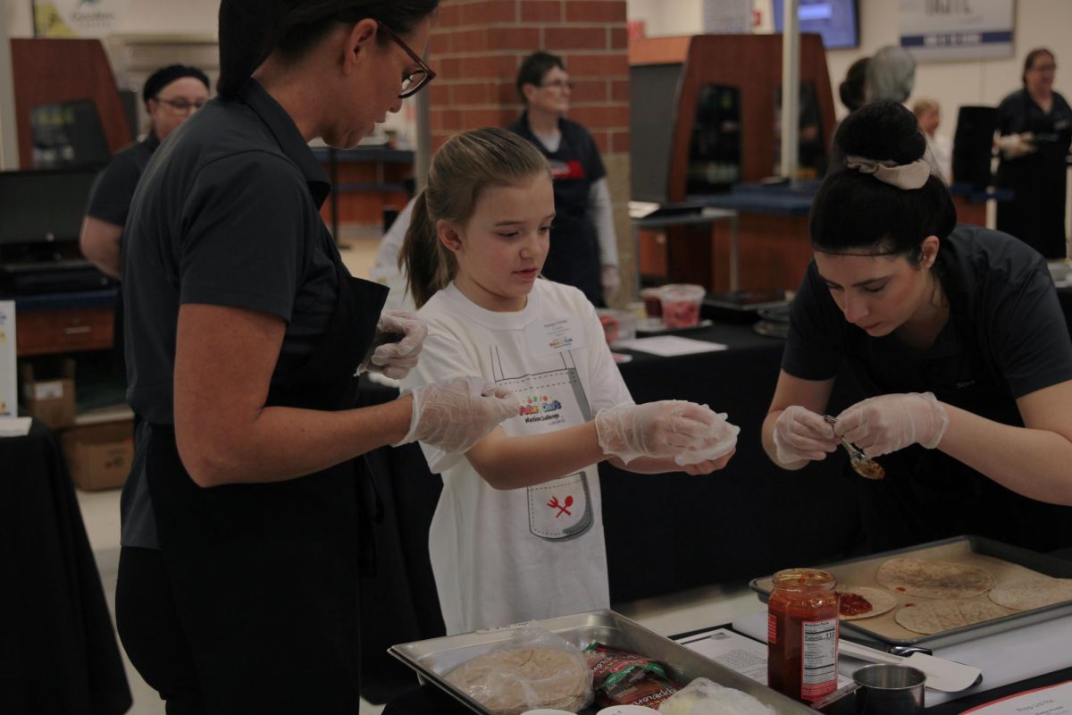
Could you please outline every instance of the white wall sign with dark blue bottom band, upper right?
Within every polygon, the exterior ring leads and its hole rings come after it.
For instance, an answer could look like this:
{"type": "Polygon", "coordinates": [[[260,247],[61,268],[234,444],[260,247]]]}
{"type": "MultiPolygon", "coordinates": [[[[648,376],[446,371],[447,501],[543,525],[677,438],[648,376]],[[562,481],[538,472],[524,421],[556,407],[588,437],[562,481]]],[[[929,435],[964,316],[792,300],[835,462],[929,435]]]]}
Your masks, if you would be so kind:
{"type": "Polygon", "coordinates": [[[900,46],[918,61],[1012,57],[1014,0],[900,0],[900,46]]]}

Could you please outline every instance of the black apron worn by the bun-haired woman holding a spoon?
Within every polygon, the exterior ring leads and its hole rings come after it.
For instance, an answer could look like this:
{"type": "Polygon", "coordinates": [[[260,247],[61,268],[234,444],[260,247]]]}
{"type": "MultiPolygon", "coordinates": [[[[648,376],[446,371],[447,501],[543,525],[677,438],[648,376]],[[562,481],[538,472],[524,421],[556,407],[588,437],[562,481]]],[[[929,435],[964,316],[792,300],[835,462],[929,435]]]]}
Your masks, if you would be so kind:
{"type": "MultiPolygon", "coordinates": [[[[891,336],[883,342],[872,341],[869,348],[888,349],[893,340],[891,336]]],[[[1015,401],[979,351],[969,348],[972,342],[964,316],[951,321],[939,341],[944,345],[938,345],[937,357],[946,363],[906,375],[902,384],[891,385],[889,379],[880,384],[862,359],[850,359],[849,369],[865,394],[932,391],[940,402],[1023,427],[1015,401]]],[[[844,468],[855,483],[870,553],[962,534],[1037,551],[1072,546],[1072,508],[1022,496],[938,449],[911,445],[877,461],[885,470],[884,479],[864,479],[847,462],[844,468]]]]}

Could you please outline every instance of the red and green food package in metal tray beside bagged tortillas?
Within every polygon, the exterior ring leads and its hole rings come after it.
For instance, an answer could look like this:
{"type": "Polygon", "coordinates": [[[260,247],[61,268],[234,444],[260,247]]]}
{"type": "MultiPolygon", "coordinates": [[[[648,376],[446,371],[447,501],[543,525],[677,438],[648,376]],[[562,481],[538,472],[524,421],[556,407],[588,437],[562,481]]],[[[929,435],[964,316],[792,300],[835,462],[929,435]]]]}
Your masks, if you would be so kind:
{"type": "Polygon", "coordinates": [[[678,684],[657,660],[592,643],[585,649],[596,704],[658,707],[678,691],[678,684]]]}

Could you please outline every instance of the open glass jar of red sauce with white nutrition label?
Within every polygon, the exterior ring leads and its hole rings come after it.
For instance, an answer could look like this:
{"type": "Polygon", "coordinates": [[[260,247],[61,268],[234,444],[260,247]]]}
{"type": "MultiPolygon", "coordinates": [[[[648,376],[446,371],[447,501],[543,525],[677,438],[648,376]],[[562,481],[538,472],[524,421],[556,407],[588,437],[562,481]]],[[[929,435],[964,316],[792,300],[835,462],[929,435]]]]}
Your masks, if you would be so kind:
{"type": "Polygon", "coordinates": [[[774,575],[766,602],[766,682],[813,702],[837,688],[837,580],[815,568],[774,575]]]}

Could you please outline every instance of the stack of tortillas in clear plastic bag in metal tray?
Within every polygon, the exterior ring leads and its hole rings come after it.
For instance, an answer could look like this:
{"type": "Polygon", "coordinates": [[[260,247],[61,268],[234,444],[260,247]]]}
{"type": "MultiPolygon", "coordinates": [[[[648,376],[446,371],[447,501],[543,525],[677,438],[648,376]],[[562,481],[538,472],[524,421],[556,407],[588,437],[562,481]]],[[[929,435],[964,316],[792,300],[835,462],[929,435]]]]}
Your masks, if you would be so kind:
{"type": "Polygon", "coordinates": [[[494,651],[463,662],[446,681],[497,715],[536,707],[577,712],[590,701],[584,659],[550,647],[494,651]]]}

